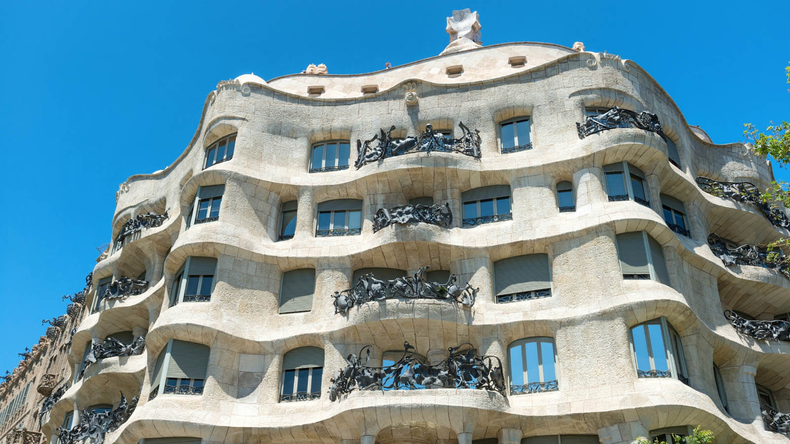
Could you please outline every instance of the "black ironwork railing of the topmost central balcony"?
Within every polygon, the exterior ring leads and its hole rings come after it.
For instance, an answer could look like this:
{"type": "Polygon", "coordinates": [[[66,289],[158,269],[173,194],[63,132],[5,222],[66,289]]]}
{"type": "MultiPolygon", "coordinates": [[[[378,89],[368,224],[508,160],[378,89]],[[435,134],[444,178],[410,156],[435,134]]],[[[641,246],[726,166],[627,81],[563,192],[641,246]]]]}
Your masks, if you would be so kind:
{"type": "Polygon", "coordinates": [[[425,130],[419,137],[408,136],[403,139],[392,137],[390,134],[395,130],[391,126],[386,133],[381,129],[380,134],[368,139],[364,143],[356,140],[356,169],[365,164],[371,164],[387,157],[401,156],[409,152],[458,152],[466,156],[480,159],[480,130],[469,130],[464,122],[458,122],[463,135],[460,138],[452,139],[444,134],[434,132],[431,124],[425,126],[425,130]],[[375,147],[371,143],[378,141],[375,147]]]}

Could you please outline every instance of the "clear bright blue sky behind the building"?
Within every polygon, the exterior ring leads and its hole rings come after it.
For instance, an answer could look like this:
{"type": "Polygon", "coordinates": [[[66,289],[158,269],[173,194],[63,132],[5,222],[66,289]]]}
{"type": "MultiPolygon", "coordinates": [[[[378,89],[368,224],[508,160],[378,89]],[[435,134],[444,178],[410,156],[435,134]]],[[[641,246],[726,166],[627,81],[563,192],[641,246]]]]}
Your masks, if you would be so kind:
{"type": "MultiPolygon", "coordinates": [[[[20,2],[0,4],[0,374],[64,313],[110,241],[115,191],[171,164],[217,81],[325,63],[362,73],[438,55],[453,9],[484,44],[539,41],[630,58],[714,142],[790,119],[790,2],[20,2]],[[771,21],[771,17],[775,17],[771,21]]],[[[775,168],[780,179],[788,171],[775,168]]]]}

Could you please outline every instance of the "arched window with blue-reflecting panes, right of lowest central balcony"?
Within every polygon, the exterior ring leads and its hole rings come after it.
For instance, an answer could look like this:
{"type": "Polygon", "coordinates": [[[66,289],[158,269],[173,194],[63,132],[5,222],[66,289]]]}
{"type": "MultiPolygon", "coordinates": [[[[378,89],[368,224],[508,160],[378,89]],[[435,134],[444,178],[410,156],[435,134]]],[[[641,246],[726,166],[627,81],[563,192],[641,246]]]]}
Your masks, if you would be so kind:
{"type": "Polygon", "coordinates": [[[511,395],[558,389],[557,356],[551,337],[532,337],[513,342],[507,356],[511,395]]]}

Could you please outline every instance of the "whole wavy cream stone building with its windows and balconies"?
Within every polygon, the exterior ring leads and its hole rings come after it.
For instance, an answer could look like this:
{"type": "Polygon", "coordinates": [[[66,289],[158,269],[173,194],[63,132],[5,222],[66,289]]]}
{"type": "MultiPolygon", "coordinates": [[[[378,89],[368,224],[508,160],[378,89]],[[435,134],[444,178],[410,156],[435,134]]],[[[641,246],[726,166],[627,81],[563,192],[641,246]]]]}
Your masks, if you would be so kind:
{"type": "Polygon", "coordinates": [[[630,60],[447,30],[222,81],[122,183],[52,444],[790,442],[790,272],[751,246],[790,221],[713,180],[770,164],[630,60]]]}

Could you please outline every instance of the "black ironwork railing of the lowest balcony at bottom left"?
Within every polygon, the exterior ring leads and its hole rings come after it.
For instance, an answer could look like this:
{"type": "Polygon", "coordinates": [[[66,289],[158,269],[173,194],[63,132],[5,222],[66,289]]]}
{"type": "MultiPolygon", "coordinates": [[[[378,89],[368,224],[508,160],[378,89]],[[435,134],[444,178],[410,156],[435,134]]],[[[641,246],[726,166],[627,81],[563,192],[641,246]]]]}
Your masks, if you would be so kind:
{"type": "Polygon", "coordinates": [[[85,409],[80,416],[80,423],[71,429],[58,427],[59,444],[77,444],[88,439],[92,444],[103,444],[104,435],[114,431],[132,415],[137,408],[139,396],[133,397],[126,403],[126,397],[121,393],[121,402],[118,408],[107,412],[91,412],[85,409]]]}

